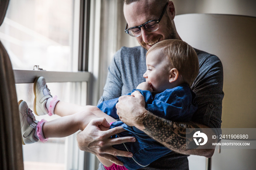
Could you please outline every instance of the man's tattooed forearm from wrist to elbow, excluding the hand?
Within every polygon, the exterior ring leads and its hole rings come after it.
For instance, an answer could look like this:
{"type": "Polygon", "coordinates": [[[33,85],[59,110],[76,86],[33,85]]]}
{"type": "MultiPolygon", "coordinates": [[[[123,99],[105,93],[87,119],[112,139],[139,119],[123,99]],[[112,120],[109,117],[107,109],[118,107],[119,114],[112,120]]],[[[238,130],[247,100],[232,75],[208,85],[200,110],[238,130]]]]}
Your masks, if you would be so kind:
{"type": "Polygon", "coordinates": [[[147,112],[145,115],[146,116],[144,119],[142,119],[144,129],[141,130],[143,130],[147,135],[151,136],[151,138],[155,139],[157,142],[163,144],[165,147],[181,154],[201,155],[205,157],[212,156],[214,148],[186,148],[186,128],[208,128],[207,126],[193,122],[177,123],[155,116],[150,112],[147,112]]]}

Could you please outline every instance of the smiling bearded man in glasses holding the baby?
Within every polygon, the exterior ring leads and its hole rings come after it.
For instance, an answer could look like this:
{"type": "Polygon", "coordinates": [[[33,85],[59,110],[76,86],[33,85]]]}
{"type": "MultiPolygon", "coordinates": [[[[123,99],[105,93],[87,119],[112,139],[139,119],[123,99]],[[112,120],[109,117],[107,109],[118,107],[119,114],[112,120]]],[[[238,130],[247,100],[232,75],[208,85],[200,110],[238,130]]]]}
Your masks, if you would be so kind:
{"type": "MultiPolygon", "coordinates": [[[[145,81],[146,51],[164,39],[180,39],[174,24],[175,8],[168,0],[124,0],[126,32],[135,36],[141,46],[122,47],[114,55],[109,66],[108,78],[100,101],[110,100],[131,91],[145,81]]],[[[189,29],[189,28],[188,28],[189,29]]],[[[116,105],[120,119],[135,126],[174,152],[158,159],[142,169],[188,169],[188,155],[211,157],[212,149],[186,149],[185,128],[220,128],[223,99],[223,69],[218,57],[196,50],[199,59],[199,74],[191,86],[196,93],[198,110],[193,123],[177,123],[154,116],[145,109],[144,98],[139,93],[121,96],[116,105]]],[[[104,157],[118,165],[122,163],[112,155],[131,157],[131,153],[115,150],[112,145],[132,142],[133,138],[110,139],[111,135],[123,131],[120,128],[100,131],[103,119],[91,121],[78,134],[79,148],[104,157]]],[[[219,133],[219,132],[217,132],[219,133]]],[[[100,165],[99,169],[103,169],[100,165]]]]}

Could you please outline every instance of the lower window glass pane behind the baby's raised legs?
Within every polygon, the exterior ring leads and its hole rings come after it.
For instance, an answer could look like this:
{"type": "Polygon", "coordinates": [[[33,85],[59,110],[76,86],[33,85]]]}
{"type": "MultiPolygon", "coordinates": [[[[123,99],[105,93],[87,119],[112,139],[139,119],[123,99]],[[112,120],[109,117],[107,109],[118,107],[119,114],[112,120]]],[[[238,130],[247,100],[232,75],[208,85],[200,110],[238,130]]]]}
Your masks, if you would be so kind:
{"type": "MultiPolygon", "coordinates": [[[[86,103],[86,83],[85,82],[61,82],[47,83],[53,96],[57,96],[61,101],[68,103],[85,105],[86,103]]],[[[16,84],[18,101],[26,101],[29,108],[33,111],[34,92],[33,84],[16,84]]],[[[34,113],[34,112],[33,112],[34,113]]],[[[40,121],[47,121],[58,118],[59,116],[37,116],[35,118],[40,121]]],[[[33,144],[23,145],[23,161],[25,170],[64,170],[69,166],[77,166],[75,150],[79,150],[76,143],[72,145],[70,139],[75,140],[75,134],[66,138],[49,138],[48,142],[40,141],[33,144]],[[74,138],[74,139],[73,139],[74,138]],[[73,164],[73,165],[68,165],[73,164]]]]}

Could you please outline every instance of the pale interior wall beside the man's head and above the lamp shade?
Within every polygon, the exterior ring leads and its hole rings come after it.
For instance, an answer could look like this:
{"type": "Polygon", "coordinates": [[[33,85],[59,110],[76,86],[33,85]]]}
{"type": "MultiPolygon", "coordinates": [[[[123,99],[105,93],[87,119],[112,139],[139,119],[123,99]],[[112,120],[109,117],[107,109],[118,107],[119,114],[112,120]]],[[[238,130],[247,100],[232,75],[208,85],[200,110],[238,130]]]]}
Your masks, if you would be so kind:
{"type": "MultiPolygon", "coordinates": [[[[221,13],[256,17],[255,0],[173,0],[173,3],[176,8],[176,15],[185,13],[221,13]]],[[[118,25],[122,25],[123,30],[118,35],[117,49],[122,46],[138,46],[136,39],[124,32],[126,21],[123,15],[123,4],[119,4],[118,8],[119,12],[121,12],[118,25]]]]}

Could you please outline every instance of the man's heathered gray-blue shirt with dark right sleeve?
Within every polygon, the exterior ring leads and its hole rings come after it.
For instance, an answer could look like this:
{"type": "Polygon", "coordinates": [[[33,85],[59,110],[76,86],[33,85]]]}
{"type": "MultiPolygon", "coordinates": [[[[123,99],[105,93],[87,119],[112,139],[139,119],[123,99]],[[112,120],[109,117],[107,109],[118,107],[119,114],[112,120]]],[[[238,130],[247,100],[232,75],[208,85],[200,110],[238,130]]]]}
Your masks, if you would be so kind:
{"type": "MultiPolygon", "coordinates": [[[[198,109],[192,121],[207,125],[211,128],[221,128],[223,88],[223,67],[215,55],[195,49],[199,60],[199,74],[191,86],[196,93],[195,101],[198,109]]],[[[141,82],[146,81],[147,50],[141,46],[122,47],[114,55],[109,66],[108,77],[99,103],[120,97],[135,89],[141,82]]],[[[220,133],[220,132],[219,132],[220,133]]],[[[154,161],[142,169],[171,170],[188,169],[188,155],[171,152],[165,157],[154,161]]],[[[105,168],[100,163],[99,170],[105,168]]]]}

